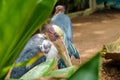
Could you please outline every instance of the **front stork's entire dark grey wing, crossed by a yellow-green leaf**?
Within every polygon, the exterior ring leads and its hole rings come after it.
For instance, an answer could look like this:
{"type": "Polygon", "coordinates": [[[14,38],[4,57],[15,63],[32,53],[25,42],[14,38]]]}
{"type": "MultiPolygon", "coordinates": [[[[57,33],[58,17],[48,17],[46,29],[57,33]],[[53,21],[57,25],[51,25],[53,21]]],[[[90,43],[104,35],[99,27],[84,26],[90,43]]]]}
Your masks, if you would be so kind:
{"type": "MultiPolygon", "coordinates": [[[[49,46],[46,46],[45,43],[43,45],[43,42],[45,42],[45,40],[46,39],[41,34],[36,34],[33,37],[31,37],[30,40],[28,41],[28,43],[26,44],[25,48],[21,52],[20,56],[16,60],[15,64],[29,60],[30,58],[34,57],[38,52],[49,51],[49,49],[50,49],[49,47],[51,47],[51,46],[49,44],[48,44],[49,46]]],[[[14,67],[12,69],[10,77],[11,78],[20,78],[23,74],[28,72],[31,68],[33,68],[34,66],[36,66],[44,61],[46,61],[45,55],[43,57],[39,58],[37,61],[35,61],[30,66],[14,67]]]]}

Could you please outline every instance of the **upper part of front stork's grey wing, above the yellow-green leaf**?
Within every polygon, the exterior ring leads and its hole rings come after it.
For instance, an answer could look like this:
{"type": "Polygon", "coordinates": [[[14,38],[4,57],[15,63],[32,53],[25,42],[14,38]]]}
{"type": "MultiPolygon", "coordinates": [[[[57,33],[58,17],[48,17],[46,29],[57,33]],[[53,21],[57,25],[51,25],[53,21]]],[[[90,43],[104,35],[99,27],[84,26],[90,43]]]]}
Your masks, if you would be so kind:
{"type": "Polygon", "coordinates": [[[20,53],[16,63],[26,61],[35,56],[40,51],[39,45],[42,45],[44,40],[45,38],[41,34],[32,36],[20,53]]]}

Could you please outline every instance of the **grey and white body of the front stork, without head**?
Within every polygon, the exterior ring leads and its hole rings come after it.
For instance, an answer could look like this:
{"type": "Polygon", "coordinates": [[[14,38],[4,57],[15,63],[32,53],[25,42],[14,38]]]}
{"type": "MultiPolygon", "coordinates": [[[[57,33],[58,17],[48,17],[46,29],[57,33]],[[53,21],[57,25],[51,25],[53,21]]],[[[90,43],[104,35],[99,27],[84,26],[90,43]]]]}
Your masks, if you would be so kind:
{"type": "Polygon", "coordinates": [[[19,78],[23,74],[25,74],[27,71],[29,71],[34,66],[52,59],[52,58],[58,58],[58,51],[56,47],[53,45],[53,43],[48,40],[44,34],[35,34],[30,38],[26,46],[24,47],[23,51],[19,55],[18,59],[16,60],[15,64],[19,62],[24,62],[32,57],[34,57],[37,53],[45,53],[44,56],[39,58],[37,61],[35,61],[30,66],[22,66],[22,67],[16,67],[13,68],[11,72],[11,78],[19,78]]]}

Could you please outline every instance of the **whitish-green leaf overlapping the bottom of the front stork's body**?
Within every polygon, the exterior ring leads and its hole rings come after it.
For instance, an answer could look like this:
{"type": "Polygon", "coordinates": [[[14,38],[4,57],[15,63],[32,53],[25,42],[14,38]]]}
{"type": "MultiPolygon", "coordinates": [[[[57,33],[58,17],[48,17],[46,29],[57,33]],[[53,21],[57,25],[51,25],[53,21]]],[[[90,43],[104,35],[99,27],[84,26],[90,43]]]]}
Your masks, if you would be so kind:
{"type": "Polygon", "coordinates": [[[32,68],[30,71],[28,71],[26,74],[24,74],[20,79],[32,80],[43,77],[45,74],[53,70],[55,62],[56,59],[52,59],[50,61],[39,64],[32,68]]]}

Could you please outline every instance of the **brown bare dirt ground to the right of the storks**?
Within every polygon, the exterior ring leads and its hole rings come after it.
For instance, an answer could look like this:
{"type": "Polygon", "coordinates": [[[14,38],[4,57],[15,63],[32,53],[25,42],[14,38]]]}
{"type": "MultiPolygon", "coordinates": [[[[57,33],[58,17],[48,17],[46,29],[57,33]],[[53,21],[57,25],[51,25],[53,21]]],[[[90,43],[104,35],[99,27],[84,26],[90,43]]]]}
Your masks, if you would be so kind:
{"type": "MultiPolygon", "coordinates": [[[[73,60],[73,64],[83,64],[101,51],[103,45],[120,37],[120,11],[103,10],[89,16],[75,15],[72,18],[74,40],[81,59],[73,60]]],[[[120,80],[120,68],[102,58],[100,80],[120,80]],[[112,64],[112,65],[111,65],[112,64]]]]}

